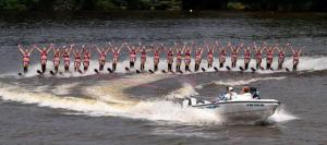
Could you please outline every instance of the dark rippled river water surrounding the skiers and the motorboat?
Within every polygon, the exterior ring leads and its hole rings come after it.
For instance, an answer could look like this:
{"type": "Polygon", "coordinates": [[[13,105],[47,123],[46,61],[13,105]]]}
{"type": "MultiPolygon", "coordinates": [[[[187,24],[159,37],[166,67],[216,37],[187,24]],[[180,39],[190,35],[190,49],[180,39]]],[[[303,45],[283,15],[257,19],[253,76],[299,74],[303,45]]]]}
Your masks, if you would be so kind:
{"type": "MultiPolygon", "coordinates": [[[[326,17],[320,13],[213,12],[136,17],[1,17],[0,143],[327,144],[326,17]],[[89,71],[58,76],[37,75],[40,64],[34,51],[29,72],[17,76],[22,71],[19,43],[172,45],[216,39],[223,44],[290,43],[304,50],[298,72],[242,73],[222,69],[182,75],[135,74],[124,71],[128,52],[123,51],[117,73],[96,75],[89,71]],[[194,95],[213,99],[228,85],[238,92],[242,86],[255,86],[263,98],[280,100],[281,106],[265,123],[232,124],[210,111],[185,109],[179,104],[181,98],[194,95]]],[[[150,59],[146,70],[152,69],[150,59]]],[[[51,62],[48,64],[51,70],[51,62]]],[[[291,68],[290,58],[284,65],[291,68]]],[[[111,67],[110,62],[107,67],[111,67]]],[[[165,67],[160,64],[160,69],[165,67]]],[[[272,67],[277,67],[276,61],[272,67]]],[[[94,52],[90,69],[95,68],[94,52]]]]}

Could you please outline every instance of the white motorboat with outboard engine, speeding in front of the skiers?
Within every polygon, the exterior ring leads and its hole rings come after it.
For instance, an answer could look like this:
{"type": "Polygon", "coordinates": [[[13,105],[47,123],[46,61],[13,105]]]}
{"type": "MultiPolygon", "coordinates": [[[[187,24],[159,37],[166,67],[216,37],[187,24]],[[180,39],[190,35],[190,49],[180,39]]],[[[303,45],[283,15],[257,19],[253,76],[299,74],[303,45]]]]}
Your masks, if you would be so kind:
{"type": "Polygon", "coordinates": [[[219,99],[214,101],[190,97],[183,100],[183,107],[214,110],[225,121],[262,122],[272,116],[280,105],[276,99],[262,99],[256,88],[252,88],[251,96],[242,98],[242,95],[238,95],[237,98],[228,100],[220,95],[219,99]]]}

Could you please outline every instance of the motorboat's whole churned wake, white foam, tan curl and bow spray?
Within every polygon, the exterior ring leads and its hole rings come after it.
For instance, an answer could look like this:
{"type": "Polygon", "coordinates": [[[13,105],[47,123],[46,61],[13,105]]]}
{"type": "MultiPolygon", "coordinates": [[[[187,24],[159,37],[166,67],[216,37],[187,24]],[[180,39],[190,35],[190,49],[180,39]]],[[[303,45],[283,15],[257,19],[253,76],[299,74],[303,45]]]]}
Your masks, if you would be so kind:
{"type": "MultiPolygon", "coordinates": [[[[2,100],[7,101],[64,109],[65,111],[62,113],[68,114],[110,116],[194,125],[225,123],[223,118],[210,109],[183,108],[181,104],[170,100],[197,95],[195,88],[187,83],[184,83],[181,88],[155,99],[140,99],[137,96],[124,93],[126,88],[168,77],[170,76],[140,74],[112,81],[98,81],[92,85],[70,83],[60,86],[41,85],[33,88],[0,82],[0,96],[2,100]],[[81,96],[71,94],[76,88],[82,90],[80,92],[81,96]]],[[[286,116],[288,114],[280,111],[271,118],[279,122],[284,121],[286,116]]]]}

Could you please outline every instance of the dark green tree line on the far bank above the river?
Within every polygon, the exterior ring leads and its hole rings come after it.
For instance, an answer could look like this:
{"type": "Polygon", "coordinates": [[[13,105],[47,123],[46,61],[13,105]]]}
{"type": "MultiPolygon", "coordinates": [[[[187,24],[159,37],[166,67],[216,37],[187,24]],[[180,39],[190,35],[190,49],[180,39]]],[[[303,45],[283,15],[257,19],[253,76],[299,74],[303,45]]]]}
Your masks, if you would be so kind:
{"type": "Polygon", "coordinates": [[[1,0],[0,11],[327,11],[327,0],[1,0]]]}

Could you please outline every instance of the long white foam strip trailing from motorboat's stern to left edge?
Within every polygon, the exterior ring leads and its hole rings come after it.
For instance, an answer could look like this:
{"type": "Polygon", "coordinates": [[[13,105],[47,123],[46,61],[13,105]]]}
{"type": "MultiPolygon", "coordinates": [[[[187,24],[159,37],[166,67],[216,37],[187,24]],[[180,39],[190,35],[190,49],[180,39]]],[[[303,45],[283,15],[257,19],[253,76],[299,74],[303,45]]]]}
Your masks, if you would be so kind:
{"type": "Polygon", "coordinates": [[[36,104],[40,107],[60,108],[92,117],[124,117],[132,119],[168,121],[175,123],[219,123],[221,119],[211,110],[182,108],[167,100],[135,101],[134,104],[112,104],[101,99],[59,97],[47,93],[16,92],[16,87],[0,88],[3,100],[36,104]]]}

